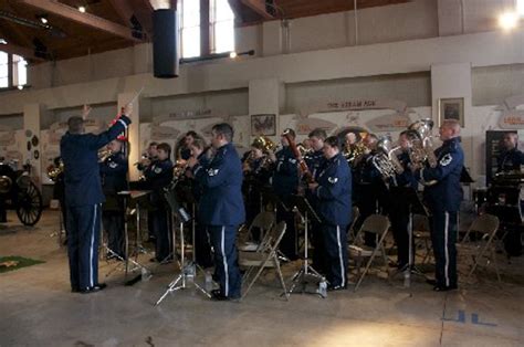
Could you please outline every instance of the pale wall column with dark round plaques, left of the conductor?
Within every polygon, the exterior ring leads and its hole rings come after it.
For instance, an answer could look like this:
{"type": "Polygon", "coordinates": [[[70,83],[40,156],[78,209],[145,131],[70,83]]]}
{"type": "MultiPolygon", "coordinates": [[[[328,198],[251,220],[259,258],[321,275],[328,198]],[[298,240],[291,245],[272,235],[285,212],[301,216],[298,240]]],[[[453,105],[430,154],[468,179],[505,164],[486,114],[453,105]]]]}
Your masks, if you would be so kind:
{"type": "Polygon", "coordinates": [[[43,111],[44,107],[41,104],[28,104],[23,106],[23,129],[25,133],[25,141],[22,149],[23,162],[21,162],[21,165],[31,165],[31,177],[34,179],[39,188],[41,188],[42,185],[42,139],[40,138],[40,118],[43,111]]]}

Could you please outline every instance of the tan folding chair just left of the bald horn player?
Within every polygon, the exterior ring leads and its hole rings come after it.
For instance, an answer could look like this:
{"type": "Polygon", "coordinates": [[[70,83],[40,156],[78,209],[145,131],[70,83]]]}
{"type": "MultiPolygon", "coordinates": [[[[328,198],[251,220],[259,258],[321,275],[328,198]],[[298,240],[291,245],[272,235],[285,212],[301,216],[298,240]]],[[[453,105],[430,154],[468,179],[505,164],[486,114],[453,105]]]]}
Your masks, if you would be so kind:
{"type": "MultiPolygon", "coordinates": [[[[387,271],[388,259],[386,256],[386,250],[384,248],[384,240],[386,239],[388,230],[389,230],[389,220],[386,215],[371,214],[368,218],[366,218],[363,225],[360,227],[360,230],[358,230],[358,233],[355,236],[355,243],[349,245],[348,253],[352,257],[356,260],[357,274],[360,272],[361,260],[364,257],[369,257],[366,264],[366,269],[359,276],[357,284],[355,285],[355,292],[360,286],[360,283],[363,282],[364,277],[369,271],[369,267],[371,266],[371,263],[378,253],[380,253],[380,255],[382,256],[384,264],[386,265],[386,271],[387,271]],[[375,238],[377,240],[377,245],[375,248],[370,248],[370,246],[366,246],[361,244],[360,235],[364,232],[370,232],[375,234],[375,238]]],[[[388,272],[388,281],[389,280],[390,278],[389,278],[389,272],[388,272]]]]}

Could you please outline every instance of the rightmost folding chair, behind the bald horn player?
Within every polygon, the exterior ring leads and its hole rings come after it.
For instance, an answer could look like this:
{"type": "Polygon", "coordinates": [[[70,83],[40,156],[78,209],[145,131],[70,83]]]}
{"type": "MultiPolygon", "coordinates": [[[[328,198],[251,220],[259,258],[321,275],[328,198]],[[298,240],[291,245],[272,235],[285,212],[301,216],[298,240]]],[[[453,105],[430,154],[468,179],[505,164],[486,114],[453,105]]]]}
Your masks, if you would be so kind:
{"type": "Polygon", "coordinates": [[[480,265],[480,262],[485,257],[488,267],[490,263],[493,263],[496,272],[496,278],[501,282],[501,274],[499,273],[499,266],[496,265],[495,257],[495,244],[496,232],[499,230],[500,221],[496,215],[493,214],[482,214],[473,220],[473,223],[468,229],[468,232],[464,235],[464,239],[458,244],[458,249],[461,253],[471,255],[473,265],[471,266],[470,272],[467,275],[467,281],[480,265]],[[471,233],[478,233],[481,235],[480,240],[475,241],[470,240],[471,233]]]}

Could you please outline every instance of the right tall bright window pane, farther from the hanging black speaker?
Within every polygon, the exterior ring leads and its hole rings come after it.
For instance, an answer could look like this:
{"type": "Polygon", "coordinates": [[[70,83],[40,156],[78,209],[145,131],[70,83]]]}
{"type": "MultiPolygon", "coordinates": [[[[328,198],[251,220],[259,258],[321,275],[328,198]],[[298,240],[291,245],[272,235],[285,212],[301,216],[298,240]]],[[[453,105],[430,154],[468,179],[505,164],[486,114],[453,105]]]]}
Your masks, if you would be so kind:
{"type": "Polygon", "coordinates": [[[211,53],[234,51],[234,14],[228,0],[211,0],[211,53]]]}

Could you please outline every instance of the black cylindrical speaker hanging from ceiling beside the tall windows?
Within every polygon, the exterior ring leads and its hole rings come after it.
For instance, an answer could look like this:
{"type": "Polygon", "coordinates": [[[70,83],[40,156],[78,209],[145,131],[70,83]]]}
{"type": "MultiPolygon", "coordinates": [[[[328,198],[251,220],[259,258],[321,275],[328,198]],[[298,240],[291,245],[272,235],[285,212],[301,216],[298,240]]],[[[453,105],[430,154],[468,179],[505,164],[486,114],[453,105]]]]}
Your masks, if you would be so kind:
{"type": "Polygon", "coordinates": [[[153,72],[157,78],[178,77],[177,12],[160,9],[153,12],[153,72]]]}

